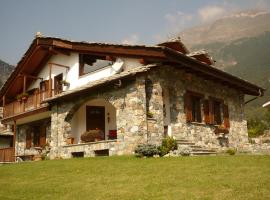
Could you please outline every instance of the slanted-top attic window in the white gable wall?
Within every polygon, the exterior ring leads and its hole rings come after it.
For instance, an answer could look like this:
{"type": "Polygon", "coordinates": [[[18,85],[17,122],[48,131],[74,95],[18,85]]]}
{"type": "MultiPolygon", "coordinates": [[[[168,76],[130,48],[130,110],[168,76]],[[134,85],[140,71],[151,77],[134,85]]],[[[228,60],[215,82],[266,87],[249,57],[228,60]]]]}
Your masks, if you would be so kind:
{"type": "Polygon", "coordinates": [[[88,74],[104,67],[112,65],[111,60],[107,60],[106,56],[93,56],[80,54],[79,56],[79,75],[88,74]]]}

